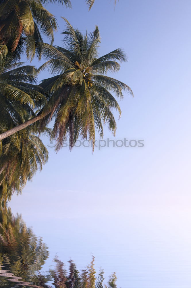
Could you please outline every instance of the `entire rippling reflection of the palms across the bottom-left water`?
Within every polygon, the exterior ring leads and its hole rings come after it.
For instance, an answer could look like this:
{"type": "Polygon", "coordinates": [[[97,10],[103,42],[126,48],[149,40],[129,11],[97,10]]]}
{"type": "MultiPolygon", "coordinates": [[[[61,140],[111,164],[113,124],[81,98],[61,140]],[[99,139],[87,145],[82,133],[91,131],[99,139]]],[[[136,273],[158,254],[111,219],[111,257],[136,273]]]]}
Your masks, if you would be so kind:
{"type": "Polygon", "coordinates": [[[36,288],[117,288],[113,273],[106,283],[104,270],[95,270],[94,257],[83,270],[78,270],[70,260],[65,265],[58,257],[55,267],[42,273],[49,252],[41,238],[27,228],[21,215],[16,217],[11,209],[0,209],[0,286],[36,288]]]}

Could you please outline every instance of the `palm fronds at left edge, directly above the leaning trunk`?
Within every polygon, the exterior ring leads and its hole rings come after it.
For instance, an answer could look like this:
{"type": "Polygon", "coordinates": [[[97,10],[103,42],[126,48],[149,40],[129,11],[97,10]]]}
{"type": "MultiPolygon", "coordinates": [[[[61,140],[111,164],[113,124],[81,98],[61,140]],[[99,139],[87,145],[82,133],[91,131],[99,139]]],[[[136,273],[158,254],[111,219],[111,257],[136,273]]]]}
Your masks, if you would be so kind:
{"type": "MultiPolygon", "coordinates": [[[[6,59],[0,69],[0,130],[13,128],[35,116],[34,107],[42,107],[46,99],[36,84],[37,71],[33,66],[21,66],[6,59]]],[[[42,89],[41,89],[42,90],[42,89]]]]}

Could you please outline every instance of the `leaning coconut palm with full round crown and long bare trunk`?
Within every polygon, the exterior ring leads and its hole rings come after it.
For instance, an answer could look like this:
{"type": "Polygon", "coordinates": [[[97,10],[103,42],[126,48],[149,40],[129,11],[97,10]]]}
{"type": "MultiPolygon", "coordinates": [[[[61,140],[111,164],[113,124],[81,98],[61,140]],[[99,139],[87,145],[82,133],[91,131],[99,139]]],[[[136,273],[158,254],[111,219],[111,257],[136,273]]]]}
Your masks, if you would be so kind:
{"type": "Polygon", "coordinates": [[[43,54],[47,58],[39,71],[48,68],[53,77],[40,83],[42,94],[47,103],[36,117],[0,135],[0,140],[40,120],[45,127],[55,119],[52,137],[57,139],[56,150],[68,135],[71,146],[81,136],[94,145],[95,130],[103,137],[103,123],[115,135],[116,122],[112,109],[121,110],[112,95],[123,98],[122,90],[133,95],[132,90],[123,82],[106,76],[108,71],[119,71],[119,62],[126,61],[122,49],[98,57],[100,35],[98,26],[93,33],[83,35],[66,21],[66,47],[44,44],[43,54]],[[118,62],[117,62],[118,61],[118,62]]]}

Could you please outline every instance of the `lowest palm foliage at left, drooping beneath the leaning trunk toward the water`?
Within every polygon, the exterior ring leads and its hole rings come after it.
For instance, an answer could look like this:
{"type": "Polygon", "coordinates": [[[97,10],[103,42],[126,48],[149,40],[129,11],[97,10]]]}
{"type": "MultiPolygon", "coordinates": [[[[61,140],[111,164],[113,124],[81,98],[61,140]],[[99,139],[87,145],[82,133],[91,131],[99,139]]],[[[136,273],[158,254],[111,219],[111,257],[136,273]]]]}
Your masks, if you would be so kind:
{"type": "MultiPolygon", "coordinates": [[[[26,129],[4,139],[0,160],[0,201],[11,199],[16,191],[21,193],[27,180],[32,180],[37,170],[48,160],[48,151],[42,140],[34,134],[34,127],[26,129]]],[[[44,132],[50,134],[50,129],[44,132]]]]}

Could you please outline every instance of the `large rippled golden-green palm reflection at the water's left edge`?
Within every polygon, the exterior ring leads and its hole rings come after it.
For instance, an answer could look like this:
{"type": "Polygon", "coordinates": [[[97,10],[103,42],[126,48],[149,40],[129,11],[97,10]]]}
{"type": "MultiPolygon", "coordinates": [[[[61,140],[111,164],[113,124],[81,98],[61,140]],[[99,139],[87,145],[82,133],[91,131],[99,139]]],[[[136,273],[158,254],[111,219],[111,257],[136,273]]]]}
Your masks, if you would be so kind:
{"type": "Polygon", "coordinates": [[[21,215],[0,209],[0,265],[25,281],[40,270],[48,258],[47,246],[27,228],[21,215]]]}

